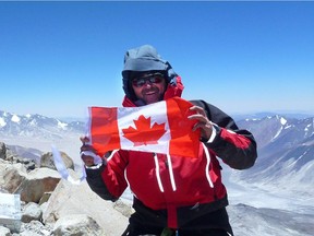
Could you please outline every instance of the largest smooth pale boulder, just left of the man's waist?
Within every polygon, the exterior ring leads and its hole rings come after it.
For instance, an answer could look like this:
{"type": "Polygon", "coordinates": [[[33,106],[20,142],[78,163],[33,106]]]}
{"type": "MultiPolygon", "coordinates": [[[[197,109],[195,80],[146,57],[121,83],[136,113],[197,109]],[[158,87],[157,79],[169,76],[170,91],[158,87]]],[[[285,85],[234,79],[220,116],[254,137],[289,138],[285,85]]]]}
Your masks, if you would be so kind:
{"type": "Polygon", "coordinates": [[[113,202],[99,198],[86,181],[75,186],[62,179],[47,203],[43,214],[45,224],[53,224],[69,214],[73,217],[84,214],[93,217],[106,236],[117,236],[124,232],[129,223],[128,217],[114,210],[113,202]]]}

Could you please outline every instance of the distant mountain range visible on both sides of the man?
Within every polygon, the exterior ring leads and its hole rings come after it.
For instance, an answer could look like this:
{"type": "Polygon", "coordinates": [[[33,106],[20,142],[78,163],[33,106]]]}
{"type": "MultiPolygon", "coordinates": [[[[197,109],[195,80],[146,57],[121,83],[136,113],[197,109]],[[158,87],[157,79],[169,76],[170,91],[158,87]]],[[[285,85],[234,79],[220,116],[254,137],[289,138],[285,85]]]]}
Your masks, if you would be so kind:
{"type": "MultiPolygon", "coordinates": [[[[239,181],[251,184],[285,186],[301,191],[312,190],[314,179],[314,117],[298,118],[282,115],[264,114],[267,116],[252,115],[237,121],[240,128],[250,130],[258,148],[256,164],[244,172],[234,174],[239,181]],[[289,185],[287,185],[289,182],[289,185]],[[311,186],[311,188],[310,188],[311,186]]],[[[237,118],[235,118],[237,119],[237,118]]],[[[34,146],[39,149],[38,139],[47,141],[62,140],[65,145],[67,139],[74,139],[85,133],[86,125],[82,121],[61,121],[56,118],[48,118],[40,115],[19,116],[0,111],[0,142],[5,138],[14,143],[14,139],[37,139],[34,146]]],[[[26,152],[20,145],[15,150],[20,153],[26,152]]],[[[73,155],[78,148],[73,144],[73,155]]],[[[76,145],[80,145],[76,144],[76,145]]],[[[31,150],[32,150],[31,149],[31,150]]],[[[39,149],[40,150],[40,149],[39,149]]],[[[26,155],[26,154],[25,154],[26,155]]],[[[35,154],[38,156],[38,153],[35,154]]]]}

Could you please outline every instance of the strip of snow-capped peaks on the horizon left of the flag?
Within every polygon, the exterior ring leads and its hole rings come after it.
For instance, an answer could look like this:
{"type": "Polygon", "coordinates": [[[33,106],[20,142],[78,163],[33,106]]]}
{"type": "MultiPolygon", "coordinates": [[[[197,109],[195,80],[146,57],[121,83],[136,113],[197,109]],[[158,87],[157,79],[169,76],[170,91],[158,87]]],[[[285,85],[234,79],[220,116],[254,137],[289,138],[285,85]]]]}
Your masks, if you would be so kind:
{"type": "Polygon", "coordinates": [[[67,132],[84,131],[85,123],[82,121],[65,122],[37,114],[20,116],[0,110],[0,135],[58,139],[67,132]]]}

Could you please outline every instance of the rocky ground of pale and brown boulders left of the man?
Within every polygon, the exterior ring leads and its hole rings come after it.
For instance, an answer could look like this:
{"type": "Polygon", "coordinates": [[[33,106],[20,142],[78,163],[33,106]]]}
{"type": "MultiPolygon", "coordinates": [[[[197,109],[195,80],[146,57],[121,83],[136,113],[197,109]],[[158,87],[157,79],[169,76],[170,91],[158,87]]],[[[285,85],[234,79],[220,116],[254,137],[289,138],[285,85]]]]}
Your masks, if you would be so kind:
{"type": "MultiPolygon", "coordinates": [[[[20,225],[12,228],[2,224],[0,235],[122,234],[132,213],[130,202],[104,201],[89,189],[86,181],[72,185],[61,179],[51,157],[51,153],[46,153],[38,166],[0,143],[0,190],[21,198],[20,225]]],[[[63,161],[75,178],[71,158],[63,156],[63,161]]]]}

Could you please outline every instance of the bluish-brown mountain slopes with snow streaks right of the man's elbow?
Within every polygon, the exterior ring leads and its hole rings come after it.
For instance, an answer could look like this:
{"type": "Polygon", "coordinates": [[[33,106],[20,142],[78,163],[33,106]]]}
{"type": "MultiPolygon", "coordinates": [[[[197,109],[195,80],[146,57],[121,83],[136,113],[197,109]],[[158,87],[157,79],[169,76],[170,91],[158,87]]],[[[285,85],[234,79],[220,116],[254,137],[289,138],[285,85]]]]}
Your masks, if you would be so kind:
{"type": "Polygon", "coordinates": [[[314,118],[275,115],[238,121],[250,130],[258,148],[256,164],[238,173],[241,180],[314,193],[314,118]]]}

